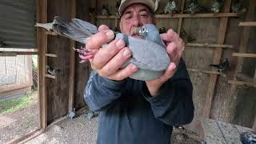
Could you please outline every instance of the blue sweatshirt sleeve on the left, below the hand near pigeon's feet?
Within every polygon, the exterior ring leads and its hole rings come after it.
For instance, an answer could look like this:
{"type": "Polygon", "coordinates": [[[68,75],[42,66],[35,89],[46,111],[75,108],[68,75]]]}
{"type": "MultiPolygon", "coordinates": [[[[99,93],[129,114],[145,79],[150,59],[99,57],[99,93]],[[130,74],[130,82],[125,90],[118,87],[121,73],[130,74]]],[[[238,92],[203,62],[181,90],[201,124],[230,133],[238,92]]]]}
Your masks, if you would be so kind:
{"type": "Polygon", "coordinates": [[[126,80],[113,81],[102,78],[95,71],[92,71],[86,84],[84,98],[91,110],[101,111],[110,107],[116,99],[122,95],[122,87],[126,80]]]}

